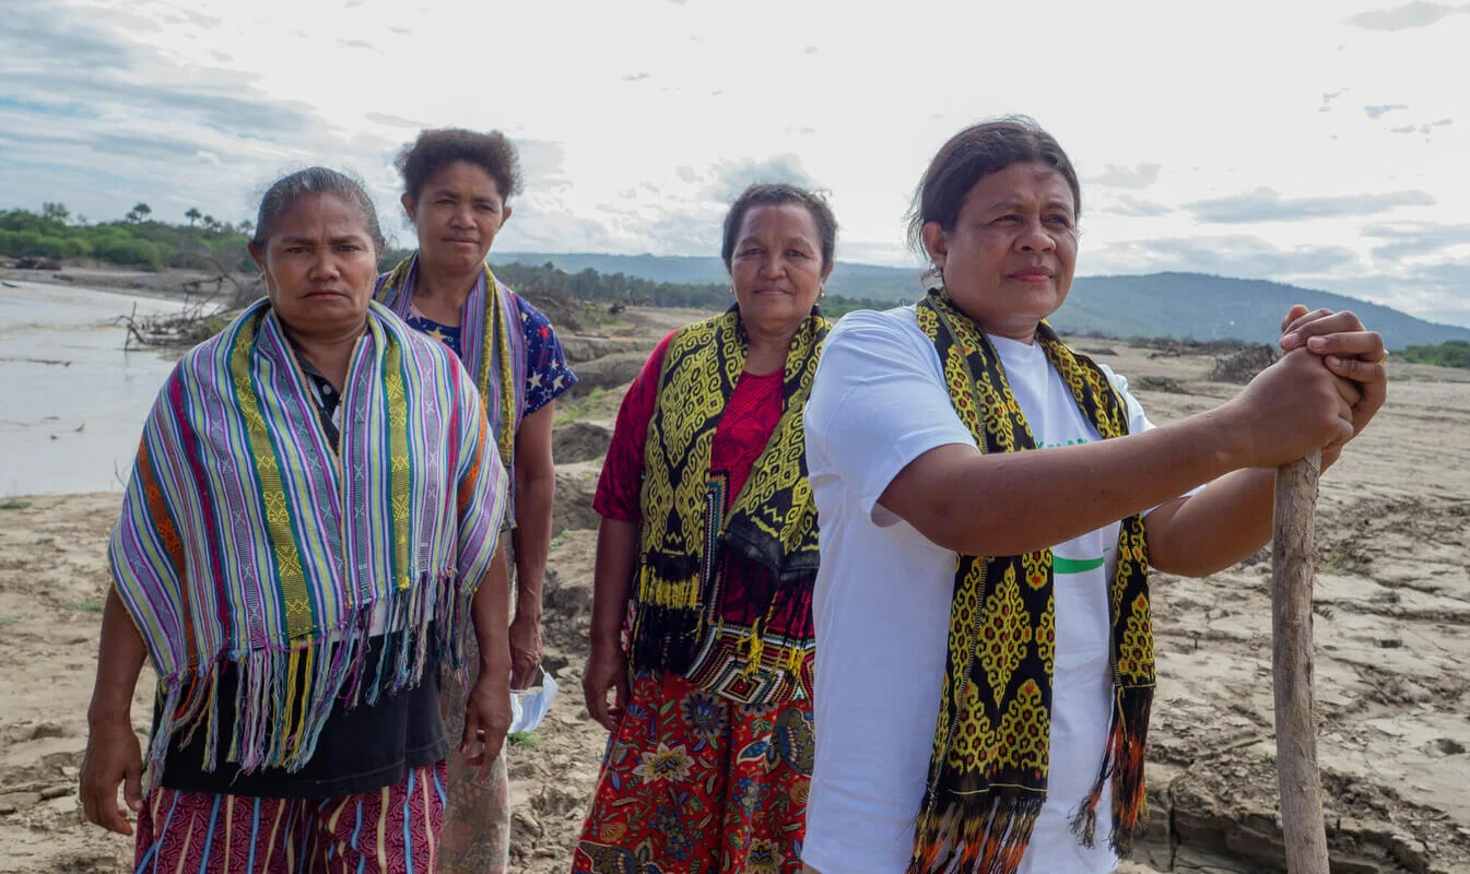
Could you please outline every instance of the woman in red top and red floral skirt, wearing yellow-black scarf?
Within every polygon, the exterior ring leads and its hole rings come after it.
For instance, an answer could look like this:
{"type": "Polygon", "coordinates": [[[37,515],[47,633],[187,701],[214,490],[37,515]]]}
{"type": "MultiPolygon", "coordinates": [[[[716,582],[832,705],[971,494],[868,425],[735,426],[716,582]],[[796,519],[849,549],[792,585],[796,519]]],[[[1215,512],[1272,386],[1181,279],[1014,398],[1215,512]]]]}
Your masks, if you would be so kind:
{"type": "Polygon", "coordinates": [[[801,864],[817,570],[801,410],[835,241],[822,197],[748,188],[725,216],[735,304],[664,338],[623,397],[582,680],[613,737],[575,874],[801,864]]]}

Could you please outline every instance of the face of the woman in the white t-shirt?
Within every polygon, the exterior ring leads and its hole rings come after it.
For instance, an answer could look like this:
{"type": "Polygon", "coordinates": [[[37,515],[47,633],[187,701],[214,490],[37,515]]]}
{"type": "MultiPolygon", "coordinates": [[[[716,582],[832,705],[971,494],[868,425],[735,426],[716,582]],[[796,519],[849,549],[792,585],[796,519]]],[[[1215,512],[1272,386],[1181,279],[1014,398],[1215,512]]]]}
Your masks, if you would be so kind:
{"type": "Polygon", "coordinates": [[[991,333],[1030,342],[1067,300],[1078,261],[1076,201],[1042,163],[980,176],[954,228],[923,228],[950,297],[991,333]]]}

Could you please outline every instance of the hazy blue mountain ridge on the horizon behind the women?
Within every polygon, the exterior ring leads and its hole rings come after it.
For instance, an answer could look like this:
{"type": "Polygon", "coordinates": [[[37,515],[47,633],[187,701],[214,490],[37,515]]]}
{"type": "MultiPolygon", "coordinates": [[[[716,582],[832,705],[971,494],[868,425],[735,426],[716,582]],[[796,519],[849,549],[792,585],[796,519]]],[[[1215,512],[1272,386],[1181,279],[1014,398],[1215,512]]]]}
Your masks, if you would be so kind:
{"type": "MultiPolygon", "coordinates": [[[[498,264],[545,264],[569,273],[585,269],[625,273],[654,282],[728,285],[717,257],[604,256],[592,253],[491,253],[498,264]]],[[[923,294],[920,272],[838,261],[828,282],[835,295],[911,303],[923,294]]],[[[1416,319],[1363,300],[1266,282],[1204,273],[1148,273],[1142,276],[1079,276],[1066,306],[1053,316],[1058,331],[1098,332],[1110,336],[1175,336],[1194,339],[1247,339],[1274,342],[1280,317],[1292,304],[1352,310],[1383,335],[1389,348],[1470,339],[1470,328],[1416,319]]]]}

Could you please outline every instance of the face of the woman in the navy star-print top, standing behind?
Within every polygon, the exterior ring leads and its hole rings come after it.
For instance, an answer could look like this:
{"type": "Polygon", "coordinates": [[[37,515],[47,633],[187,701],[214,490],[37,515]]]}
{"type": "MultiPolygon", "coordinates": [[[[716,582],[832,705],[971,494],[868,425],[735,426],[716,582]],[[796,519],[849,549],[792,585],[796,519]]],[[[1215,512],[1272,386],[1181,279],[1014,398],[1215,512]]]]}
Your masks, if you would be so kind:
{"type": "Polygon", "coordinates": [[[404,194],[403,209],[419,231],[419,259],[460,273],[479,269],[510,219],[495,178],[469,162],[429,176],[417,201],[404,194]]]}

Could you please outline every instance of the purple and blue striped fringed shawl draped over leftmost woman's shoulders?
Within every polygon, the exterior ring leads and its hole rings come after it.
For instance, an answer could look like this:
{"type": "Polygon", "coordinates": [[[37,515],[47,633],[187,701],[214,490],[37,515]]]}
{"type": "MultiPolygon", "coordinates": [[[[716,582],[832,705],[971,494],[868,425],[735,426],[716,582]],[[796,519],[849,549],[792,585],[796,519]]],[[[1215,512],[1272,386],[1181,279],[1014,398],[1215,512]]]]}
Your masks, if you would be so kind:
{"type": "Polygon", "coordinates": [[[507,492],[462,378],[440,344],[370,304],[334,452],[266,301],[184,355],[109,546],[163,699],[150,780],[175,733],[200,727],[207,770],[220,730],[244,771],[298,770],[335,702],[413,687],[432,654],[460,665],[507,492]],[[368,676],[375,635],[385,655],[368,676]],[[226,662],[234,726],[216,720],[226,662]]]}

